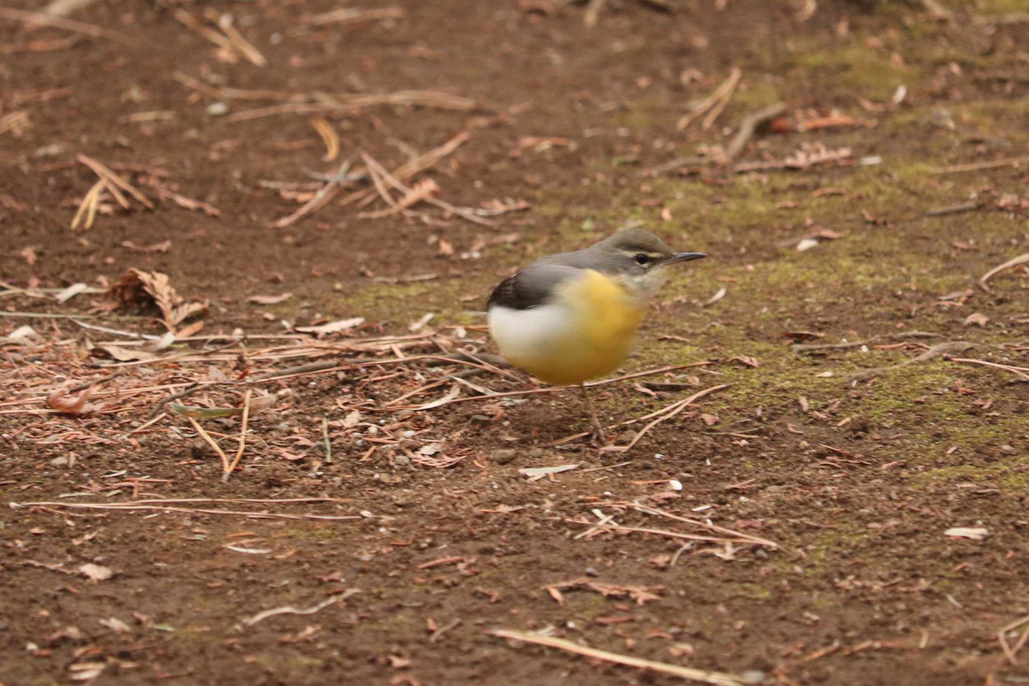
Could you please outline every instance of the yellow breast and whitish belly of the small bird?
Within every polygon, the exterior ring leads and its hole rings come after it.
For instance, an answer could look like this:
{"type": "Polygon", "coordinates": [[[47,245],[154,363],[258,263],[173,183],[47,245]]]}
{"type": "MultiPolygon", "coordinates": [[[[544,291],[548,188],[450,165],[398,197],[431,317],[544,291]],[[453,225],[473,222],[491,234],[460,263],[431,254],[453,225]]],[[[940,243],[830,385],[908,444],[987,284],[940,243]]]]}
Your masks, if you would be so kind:
{"type": "Polygon", "coordinates": [[[544,308],[556,308],[564,321],[547,324],[533,345],[505,347],[497,339],[511,364],[548,384],[580,384],[617,369],[643,317],[638,298],[593,269],[561,284],[554,304],[544,308]]]}

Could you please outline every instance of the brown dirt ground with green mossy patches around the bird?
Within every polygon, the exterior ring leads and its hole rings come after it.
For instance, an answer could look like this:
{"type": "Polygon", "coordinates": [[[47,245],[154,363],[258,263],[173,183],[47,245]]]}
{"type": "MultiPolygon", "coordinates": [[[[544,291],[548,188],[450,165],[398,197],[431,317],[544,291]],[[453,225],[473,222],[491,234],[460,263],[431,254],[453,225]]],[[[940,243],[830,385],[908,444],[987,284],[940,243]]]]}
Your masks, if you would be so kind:
{"type": "MultiPolygon", "coordinates": [[[[538,255],[643,222],[711,258],[668,286],[626,371],[715,363],[659,377],[684,385],[679,390],[607,386],[597,392],[602,414],[613,424],[704,387],[733,386],[659,425],[632,452],[601,457],[576,442],[542,447],[583,427],[576,394],[397,417],[381,404],[438,370],[413,364],[379,381],[369,380],[395,367],[313,374],[263,386],[290,387],[295,395],[253,419],[242,468],[223,483],[218,460],[193,454],[184,418],[127,435],[167,391],[108,400],[101,412],[80,417],[25,404],[66,375],[105,374],[100,365],[111,360],[87,356],[87,340],[127,339],[67,319],[12,313],[92,311],[97,318],[83,321],[151,333],[159,325],[91,310],[104,302],[98,294],[58,304],[48,295],[0,293],[6,311],[0,312],[11,315],[0,319],[0,334],[30,324],[45,338],[39,348],[3,346],[5,502],[120,502],[133,496],[131,479],[148,477],[158,480],[141,482],[140,497],[327,496],[347,502],[268,507],[356,515],[5,509],[0,681],[677,683],[488,634],[503,627],[549,628],[596,648],[746,673],[770,684],[1026,683],[1029,650],[1008,662],[996,633],[1029,614],[1029,386],[1001,369],[944,358],[871,381],[847,376],[912,359],[925,350],[918,344],[958,339],[978,345],[967,357],[1027,366],[1029,270],[998,275],[990,292],[975,284],[992,266],[1029,251],[1027,167],[933,173],[1029,154],[1020,0],[943,2],[954,12],[950,22],[920,3],[823,1],[801,21],[802,2],[730,0],[719,11],[713,1],[691,1],[675,3],[668,14],[612,0],[593,28],[583,26],[582,7],[531,10],[546,2],[401,4],[400,19],[306,33],[293,31],[299,20],[333,3],[101,2],[72,17],[125,34],[132,45],[85,36],[71,44],[39,42],[77,34],[28,32],[0,20],[0,117],[27,112],[27,122],[0,133],[4,287],[102,286],[139,267],[169,275],[187,297],[211,300],[201,334],[237,327],[282,333],[280,321],[293,326],[353,316],[403,334],[409,323],[433,313],[428,327],[458,338],[443,327],[467,327],[456,345],[488,352],[474,328],[482,320],[466,311],[480,308],[500,277],[538,255]],[[225,62],[172,14],[181,7],[200,16],[207,6],[232,12],[268,66],[225,62]],[[714,127],[703,131],[696,122],[676,131],[686,103],[710,93],[734,66],[742,82],[714,127]],[[384,106],[327,118],[344,156],[364,150],[390,169],[412,149],[424,152],[470,131],[469,142],[420,178],[433,178],[454,205],[512,197],[532,207],[488,228],[456,217],[441,225],[361,219],[333,201],[294,226],[270,228],[297,204],[261,181],[309,182],[306,170],[331,172],[338,161],[322,160],[325,149],[308,115],[226,122],[208,113],[215,99],[183,86],[175,72],[214,87],[439,89],[471,98],[482,105],[472,112],[384,106]],[[901,84],[907,97],[893,105],[901,84]],[[641,175],[695,154],[701,144],[724,145],[743,116],[777,100],[791,118],[808,108],[822,114],[839,108],[878,125],[766,131],[740,156],[781,159],[804,143],[821,142],[852,148],[841,165],[641,175]],[[149,112],[168,114],[139,114],[149,112]],[[571,145],[523,145],[523,137],[571,145]],[[146,177],[167,174],[178,192],[220,216],[163,202],[152,212],[137,206],[102,214],[92,229],[72,232],[75,206],[96,180],[75,163],[79,153],[115,167],[151,196],[146,177]],[[881,164],[853,164],[877,155],[881,164]],[[923,217],[970,198],[981,206],[923,217]],[[794,249],[820,229],[838,238],[794,249]],[[163,253],[122,245],[167,240],[171,248],[163,253]],[[440,240],[453,255],[440,255],[440,240]],[[483,240],[488,245],[462,259],[483,240]],[[389,283],[427,273],[435,278],[389,283]],[[703,306],[721,287],[725,296],[703,306]],[[279,304],[246,301],[285,292],[292,297],[279,304]],[[973,313],[989,321],[964,326],[973,313]],[[824,334],[816,342],[879,337],[868,351],[814,356],[792,352],[787,331],[824,334]],[[902,337],[912,331],[936,336],[902,337]],[[759,366],[732,361],[741,356],[759,366]],[[405,446],[438,444],[464,460],[449,469],[401,464],[403,454],[385,445],[361,462],[369,429],[355,435],[362,426],[345,426],[354,408],[405,446]],[[331,464],[317,446],[323,417],[333,432],[331,464]],[[514,459],[500,464],[497,452],[504,449],[514,459]],[[518,473],[563,463],[581,466],[552,480],[530,482],[518,473]],[[670,491],[670,479],[683,490],[670,491]],[[726,555],[720,545],[696,542],[673,565],[675,540],[610,532],[575,538],[586,528],[569,520],[594,520],[594,508],[624,526],[705,532],[634,511],[636,501],[709,517],[779,547],[745,545],[726,555]],[[952,527],[985,528],[989,537],[945,536],[952,527]],[[450,557],[461,559],[424,567],[450,557]],[[114,576],[92,582],[75,572],[85,563],[114,576]],[[559,604],[544,590],[587,574],[606,584],[660,587],[658,598],[638,605],[576,589],[564,591],[559,604]],[[345,589],[360,592],[315,614],[244,623],[262,610],[310,608],[345,589]],[[433,635],[433,627],[449,626],[433,635]]],[[[229,113],[275,104],[225,103],[229,113]]],[[[244,346],[253,352],[264,344],[244,346]]],[[[224,341],[211,344],[218,345],[224,341]]],[[[137,388],[297,363],[244,358],[236,348],[209,364],[123,367],[115,384],[137,388]]],[[[498,391],[529,385],[495,374],[474,382],[498,391]]],[[[239,404],[239,396],[198,394],[188,402],[239,404]]],[[[204,424],[230,435],[239,432],[236,422],[204,424]]],[[[224,443],[229,452],[236,444],[224,443]]],[[[1016,643],[1024,630],[1008,640],[1016,643]]]]}

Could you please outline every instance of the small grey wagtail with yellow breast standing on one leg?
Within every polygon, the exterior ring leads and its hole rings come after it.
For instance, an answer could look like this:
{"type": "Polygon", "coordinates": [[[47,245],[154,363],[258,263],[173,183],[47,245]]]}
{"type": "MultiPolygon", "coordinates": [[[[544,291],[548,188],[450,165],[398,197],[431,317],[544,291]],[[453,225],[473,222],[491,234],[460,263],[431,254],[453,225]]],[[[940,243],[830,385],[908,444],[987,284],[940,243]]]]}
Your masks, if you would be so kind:
{"type": "Polygon", "coordinates": [[[493,290],[487,304],[490,333],[516,367],[548,384],[578,384],[594,440],[603,442],[584,383],[625,361],[646,301],[668,267],[702,257],[707,255],[674,252],[639,228],[543,257],[493,290]]]}

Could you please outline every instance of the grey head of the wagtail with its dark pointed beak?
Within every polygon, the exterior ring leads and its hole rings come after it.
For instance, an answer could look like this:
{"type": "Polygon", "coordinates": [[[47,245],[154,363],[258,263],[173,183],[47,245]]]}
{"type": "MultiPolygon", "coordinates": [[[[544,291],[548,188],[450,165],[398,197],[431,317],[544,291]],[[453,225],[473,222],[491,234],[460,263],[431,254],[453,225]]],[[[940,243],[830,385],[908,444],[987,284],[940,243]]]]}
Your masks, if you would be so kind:
{"type": "Polygon", "coordinates": [[[589,250],[598,272],[619,278],[644,296],[661,288],[667,267],[706,257],[699,252],[675,252],[642,228],[618,231],[589,250]]]}

